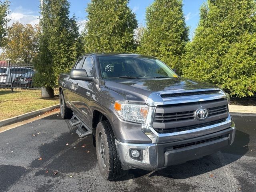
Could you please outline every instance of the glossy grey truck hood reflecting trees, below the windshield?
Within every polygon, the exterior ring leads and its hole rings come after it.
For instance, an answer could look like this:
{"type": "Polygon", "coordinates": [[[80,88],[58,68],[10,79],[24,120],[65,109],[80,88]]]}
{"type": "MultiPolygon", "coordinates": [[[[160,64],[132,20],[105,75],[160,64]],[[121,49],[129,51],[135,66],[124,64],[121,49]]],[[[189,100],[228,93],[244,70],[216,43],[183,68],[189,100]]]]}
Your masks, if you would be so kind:
{"type": "Polygon", "coordinates": [[[122,94],[124,98],[131,102],[146,102],[152,92],[218,88],[207,82],[186,78],[113,78],[105,80],[105,86],[122,94]]]}

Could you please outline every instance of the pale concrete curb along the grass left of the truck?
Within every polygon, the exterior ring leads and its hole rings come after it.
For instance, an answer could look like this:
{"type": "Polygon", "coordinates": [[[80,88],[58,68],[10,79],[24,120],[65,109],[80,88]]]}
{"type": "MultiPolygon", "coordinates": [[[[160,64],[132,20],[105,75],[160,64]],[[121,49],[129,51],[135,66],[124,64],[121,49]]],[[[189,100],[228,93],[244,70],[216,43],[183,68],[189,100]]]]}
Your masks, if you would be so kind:
{"type": "Polygon", "coordinates": [[[16,123],[16,122],[20,122],[22,120],[27,120],[27,119],[36,117],[38,115],[44,114],[45,112],[54,110],[54,109],[59,108],[59,107],[60,107],[60,104],[57,104],[57,105],[42,108],[42,109],[39,109],[39,110],[36,110],[36,111],[28,112],[28,113],[25,113],[25,114],[22,114],[22,115],[18,115],[16,117],[1,120],[0,121],[0,127],[5,126],[5,125],[9,125],[9,124],[13,124],[13,123],[16,123]]]}

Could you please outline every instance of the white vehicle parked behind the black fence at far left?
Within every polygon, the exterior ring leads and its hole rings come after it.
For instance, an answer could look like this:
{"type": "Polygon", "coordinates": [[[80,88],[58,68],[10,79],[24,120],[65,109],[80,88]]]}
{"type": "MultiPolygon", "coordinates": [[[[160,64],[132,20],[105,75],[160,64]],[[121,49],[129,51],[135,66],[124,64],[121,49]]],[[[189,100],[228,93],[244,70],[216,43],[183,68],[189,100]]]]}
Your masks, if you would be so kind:
{"type": "Polygon", "coordinates": [[[28,72],[34,72],[34,70],[27,67],[0,67],[0,85],[11,86],[17,77],[28,72]]]}

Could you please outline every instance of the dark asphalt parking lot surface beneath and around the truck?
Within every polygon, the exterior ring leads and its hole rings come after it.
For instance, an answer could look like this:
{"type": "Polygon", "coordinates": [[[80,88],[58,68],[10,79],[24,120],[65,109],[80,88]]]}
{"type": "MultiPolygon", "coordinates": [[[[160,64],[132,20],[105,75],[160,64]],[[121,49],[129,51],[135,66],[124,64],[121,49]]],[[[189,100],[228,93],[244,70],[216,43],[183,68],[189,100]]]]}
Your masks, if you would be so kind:
{"type": "Polygon", "coordinates": [[[0,191],[256,191],[256,116],[237,114],[234,144],[158,172],[103,180],[91,136],[79,139],[59,114],[0,133],[0,191]]]}

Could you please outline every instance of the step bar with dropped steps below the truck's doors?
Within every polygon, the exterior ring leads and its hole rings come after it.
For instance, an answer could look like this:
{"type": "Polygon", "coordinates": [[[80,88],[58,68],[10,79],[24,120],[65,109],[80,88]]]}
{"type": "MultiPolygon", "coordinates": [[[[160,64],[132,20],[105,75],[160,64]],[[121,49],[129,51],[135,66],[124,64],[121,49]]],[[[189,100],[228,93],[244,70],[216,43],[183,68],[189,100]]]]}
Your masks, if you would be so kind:
{"type": "Polygon", "coordinates": [[[76,116],[76,114],[73,113],[72,118],[69,120],[71,126],[78,126],[76,133],[78,134],[78,136],[80,138],[84,138],[85,136],[88,136],[90,134],[92,134],[92,130],[86,126],[86,124],[84,124],[84,122],[82,122],[82,120],[80,120],[80,118],[78,118],[78,116],[76,116]]]}

